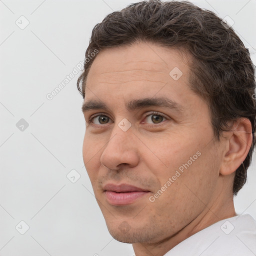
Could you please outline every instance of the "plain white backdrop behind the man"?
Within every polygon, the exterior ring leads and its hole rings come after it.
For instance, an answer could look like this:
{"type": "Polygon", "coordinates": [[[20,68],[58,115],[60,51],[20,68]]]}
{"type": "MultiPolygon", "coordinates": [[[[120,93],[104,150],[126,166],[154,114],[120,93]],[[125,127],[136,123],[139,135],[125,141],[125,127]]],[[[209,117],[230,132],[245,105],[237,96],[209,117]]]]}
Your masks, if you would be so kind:
{"type": "MultiPolygon", "coordinates": [[[[192,2],[221,18],[230,16],[245,46],[255,52],[256,0],[192,2]]],[[[93,26],[129,3],[133,1],[0,1],[1,256],[133,254],[130,244],[108,233],[83,167],[79,74],[51,100],[46,98],[84,59],[93,26]],[[29,21],[24,29],[15,24],[21,15],[29,21]],[[29,124],[23,131],[16,127],[21,118],[29,124]],[[71,169],[80,174],[75,183],[66,177],[71,169]],[[17,231],[24,224],[15,229],[21,220],[29,226],[24,234],[17,231]]],[[[254,154],[235,209],[256,219],[255,160],[254,154]]]]}

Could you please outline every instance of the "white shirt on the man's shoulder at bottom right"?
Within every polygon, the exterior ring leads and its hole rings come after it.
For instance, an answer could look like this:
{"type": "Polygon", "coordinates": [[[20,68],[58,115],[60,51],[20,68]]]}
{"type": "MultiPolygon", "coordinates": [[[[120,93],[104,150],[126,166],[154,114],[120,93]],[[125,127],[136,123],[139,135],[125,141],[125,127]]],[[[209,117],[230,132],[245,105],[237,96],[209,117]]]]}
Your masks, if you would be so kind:
{"type": "Polygon", "coordinates": [[[222,219],[186,238],[164,256],[254,256],[256,221],[249,214],[222,219]]]}

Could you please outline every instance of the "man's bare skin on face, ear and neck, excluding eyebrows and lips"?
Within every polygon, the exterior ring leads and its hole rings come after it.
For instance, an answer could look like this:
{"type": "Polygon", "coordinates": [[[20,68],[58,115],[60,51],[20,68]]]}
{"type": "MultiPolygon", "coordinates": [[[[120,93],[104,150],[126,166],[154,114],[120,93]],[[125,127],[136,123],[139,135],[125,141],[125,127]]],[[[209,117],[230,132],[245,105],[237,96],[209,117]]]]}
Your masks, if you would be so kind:
{"type": "Polygon", "coordinates": [[[132,243],[136,256],[161,256],[195,232],[235,216],[232,182],[251,145],[251,125],[240,118],[220,141],[214,139],[209,108],[189,87],[189,58],[177,49],[137,42],[100,51],[88,73],[84,102],[100,100],[107,109],[83,112],[84,164],[110,234],[132,243]],[[169,75],[173,67],[183,73],[178,80],[169,75]],[[130,100],[161,96],[182,111],[125,108],[130,100]],[[123,118],[131,124],[127,131],[118,126],[123,118]],[[149,196],[198,151],[151,202],[149,196]],[[111,205],[102,188],[109,182],[149,192],[131,204],[111,205]]]}

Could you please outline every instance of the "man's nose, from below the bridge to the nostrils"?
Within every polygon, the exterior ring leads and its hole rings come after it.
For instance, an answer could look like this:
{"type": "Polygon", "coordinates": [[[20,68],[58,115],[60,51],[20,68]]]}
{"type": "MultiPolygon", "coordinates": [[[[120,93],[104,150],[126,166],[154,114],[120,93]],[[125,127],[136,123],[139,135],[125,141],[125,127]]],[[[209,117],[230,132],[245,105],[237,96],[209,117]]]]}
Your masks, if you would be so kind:
{"type": "Polygon", "coordinates": [[[138,141],[132,127],[123,131],[117,124],[100,156],[100,162],[112,170],[131,168],[138,164],[138,141]]]}

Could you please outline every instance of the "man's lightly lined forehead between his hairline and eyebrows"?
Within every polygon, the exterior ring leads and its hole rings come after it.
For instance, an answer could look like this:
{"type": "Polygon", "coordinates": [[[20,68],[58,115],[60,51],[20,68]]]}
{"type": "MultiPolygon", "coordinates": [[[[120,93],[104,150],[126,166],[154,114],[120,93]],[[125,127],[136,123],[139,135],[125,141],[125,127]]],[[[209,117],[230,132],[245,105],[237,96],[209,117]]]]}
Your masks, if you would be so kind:
{"type": "Polygon", "coordinates": [[[188,89],[187,63],[187,53],[148,42],[104,49],[88,72],[84,100],[103,93],[122,97],[143,93],[152,97],[165,94],[168,89],[177,96],[188,89]],[[173,74],[178,79],[173,79],[173,74]]]}

